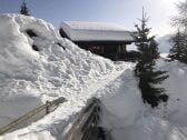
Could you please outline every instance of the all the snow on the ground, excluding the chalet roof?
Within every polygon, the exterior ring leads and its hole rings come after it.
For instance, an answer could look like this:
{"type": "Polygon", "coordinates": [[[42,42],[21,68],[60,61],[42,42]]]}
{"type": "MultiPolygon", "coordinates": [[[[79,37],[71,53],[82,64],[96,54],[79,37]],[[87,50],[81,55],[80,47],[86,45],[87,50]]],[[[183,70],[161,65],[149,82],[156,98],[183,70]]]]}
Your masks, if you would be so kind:
{"type": "Polygon", "coordinates": [[[141,101],[135,63],[115,63],[81,50],[43,20],[1,14],[0,127],[46,100],[68,101],[0,140],[61,140],[91,97],[101,100],[101,126],[114,140],[186,140],[187,66],[164,60],[157,67],[168,71],[163,87],[169,101],[152,110],[141,101]]]}

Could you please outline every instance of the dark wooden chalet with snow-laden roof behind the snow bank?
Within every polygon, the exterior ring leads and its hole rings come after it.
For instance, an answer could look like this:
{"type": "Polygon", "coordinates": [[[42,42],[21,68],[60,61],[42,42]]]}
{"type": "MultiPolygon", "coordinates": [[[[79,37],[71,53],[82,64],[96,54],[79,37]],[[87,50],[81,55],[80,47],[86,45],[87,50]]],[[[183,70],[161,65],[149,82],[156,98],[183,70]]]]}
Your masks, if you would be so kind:
{"type": "Polygon", "coordinates": [[[59,32],[80,48],[111,60],[125,59],[127,44],[135,42],[132,32],[112,23],[65,21],[59,32]]]}

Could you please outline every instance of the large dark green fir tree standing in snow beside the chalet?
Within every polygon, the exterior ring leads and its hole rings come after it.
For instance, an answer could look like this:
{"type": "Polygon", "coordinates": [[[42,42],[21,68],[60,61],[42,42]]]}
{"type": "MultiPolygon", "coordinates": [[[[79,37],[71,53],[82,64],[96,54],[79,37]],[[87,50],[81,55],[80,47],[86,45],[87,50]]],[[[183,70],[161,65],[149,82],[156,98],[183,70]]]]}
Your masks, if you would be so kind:
{"type": "Polygon", "coordinates": [[[139,79],[139,89],[145,103],[149,103],[152,108],[157,107],[160,101],[166,102],[168,96],[165,94],[164,88],[157,88],[154,84],[159,84],[168,78],[166,71],[157,71],[155,68],[156,59],[159,58],[158,44],[155,41],[155,36],[149,37],[150,29],[147,28],[148,18],[142,10],[141,26],[136,24],[136,46],[140,52],[140,58],[135,69],[135,74],[139,79]]]}

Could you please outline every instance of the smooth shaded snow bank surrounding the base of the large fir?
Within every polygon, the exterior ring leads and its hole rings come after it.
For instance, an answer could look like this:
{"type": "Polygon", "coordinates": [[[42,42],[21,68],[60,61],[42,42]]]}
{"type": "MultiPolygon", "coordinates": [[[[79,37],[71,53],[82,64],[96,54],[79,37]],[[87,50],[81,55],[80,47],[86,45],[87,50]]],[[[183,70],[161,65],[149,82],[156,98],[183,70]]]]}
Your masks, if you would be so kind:
{"type": "Polygon", "coordinates": [[[160,59],[157,67],[169,74],[161,84],[169,94],[167,108],[160,104],[152,110],[142,103],[132,68],[98,91],[102,102],[101,126],[112,139],[187,139],[187,66],[160,59]]]}

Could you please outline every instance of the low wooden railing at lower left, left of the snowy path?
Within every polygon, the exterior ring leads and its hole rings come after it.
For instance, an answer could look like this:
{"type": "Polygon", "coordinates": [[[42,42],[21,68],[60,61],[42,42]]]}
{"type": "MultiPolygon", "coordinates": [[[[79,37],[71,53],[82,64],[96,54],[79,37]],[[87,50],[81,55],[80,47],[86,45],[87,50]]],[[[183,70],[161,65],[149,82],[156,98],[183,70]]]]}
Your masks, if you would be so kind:
{"type": "Polygon", "coordinates": [[[40,106],[40,107],[29,111],[28,113],[26,113],[24,116],[16,119],[11,123],[2,127],[0,129],[0,134],[9,132],[13,128],[18,128],[20,124],[22,124],[27,120],[31,119],[33,116],[40,113],[41,111],[46,110],[43,114],[40,114],[40,117],[43,117],[43,116],[48,114],[49,112],[51,112],[53,109],[56,109],[60,103],[63,103],[65,101],[66,101],[66,99],[63,97],[61,97],[59,99],[56,99],[53,101],[47,101],[46,104],[40,106]]]}

